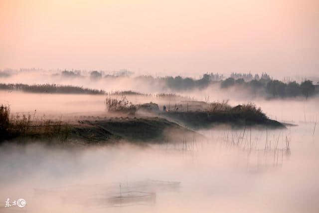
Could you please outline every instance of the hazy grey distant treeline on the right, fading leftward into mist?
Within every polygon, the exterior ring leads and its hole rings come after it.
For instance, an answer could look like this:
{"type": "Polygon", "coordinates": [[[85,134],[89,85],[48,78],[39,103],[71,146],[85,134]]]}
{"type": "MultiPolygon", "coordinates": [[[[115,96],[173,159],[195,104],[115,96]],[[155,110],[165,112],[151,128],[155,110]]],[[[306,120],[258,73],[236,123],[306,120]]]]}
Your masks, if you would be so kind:
{"type": "Polygon", "coordinates": [[[138,76],[136,79],[145,80],[150,84],[161,83],[164,87],[175,91],[203,89],[209,85],[220,84],[221,89],[231,87],[245,88],[253,93],[264,96],[265,98],[290,98],[297,96],[305,96],[306,98],[319,93],[316,87],[310,80],[304,80],[300,84],[296,81],[284,83],[279,80],[271,79],[267,73],[262,73],[261,76],[256,74],[241,74],[232,73],[232,77],[223,80],[223,75],[219,74],[204,74],[200,79],[196,80],[189,77],[181,76],[166,76],[154,78],[153,76],[138,76]]]}

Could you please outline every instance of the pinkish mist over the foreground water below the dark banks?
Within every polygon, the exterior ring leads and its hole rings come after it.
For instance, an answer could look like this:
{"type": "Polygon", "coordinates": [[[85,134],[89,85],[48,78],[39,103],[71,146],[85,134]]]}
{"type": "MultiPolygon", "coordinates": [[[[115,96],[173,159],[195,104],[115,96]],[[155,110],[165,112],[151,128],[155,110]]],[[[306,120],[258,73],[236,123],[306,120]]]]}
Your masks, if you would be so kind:
{"type": "Polygon", "coordinates": [[[312,129],[311,124],[244,134],[212,129],[201,131],[205,141],[143,148],[129,143],[85,148],[51,147],[40,141],[3,144],[0,199],[23,198],[25,209],[14,210],[43,213],[315,213],[319,133],[313,135],[312,129]],[[291,140],[289,152],[286,137],[291,140]],[[179,184],[152,184],[158,182],[179,184]],[[154,197],[110,202],[127,192],[154,197]]]}

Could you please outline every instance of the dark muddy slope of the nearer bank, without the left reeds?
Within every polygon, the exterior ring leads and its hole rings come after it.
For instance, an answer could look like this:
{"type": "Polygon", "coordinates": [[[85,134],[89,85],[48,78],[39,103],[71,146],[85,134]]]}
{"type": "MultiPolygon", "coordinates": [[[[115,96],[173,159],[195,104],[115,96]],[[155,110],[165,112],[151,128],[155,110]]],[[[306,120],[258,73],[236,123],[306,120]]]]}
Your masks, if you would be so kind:
{"type": "Polygon", "coordinates": [[[203,138],[202,135],[159,117],[113,117],[97,120],[78,120],[69,123],[51,123],[28,127],[23,135],[11,135],[5,141],[40,140],[63,144],[116,144],[118,142],[179,143],[185,138],[203,138]]]}

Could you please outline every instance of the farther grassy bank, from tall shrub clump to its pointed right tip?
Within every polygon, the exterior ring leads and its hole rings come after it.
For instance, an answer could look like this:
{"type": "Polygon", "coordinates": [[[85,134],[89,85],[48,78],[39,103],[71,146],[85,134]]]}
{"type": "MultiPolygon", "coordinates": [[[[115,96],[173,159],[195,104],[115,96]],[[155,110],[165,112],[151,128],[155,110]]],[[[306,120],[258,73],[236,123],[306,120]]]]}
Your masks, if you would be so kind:
{"type": "Polygon", "coordinates": [[[282,123],[269,119],[261,108],[257,108],[253,103],[230,106],[228,101],[181,101],[173,107],[163,105],[162,111],[156,103],[133,105],[125,97],[121,100],[107,98],[105,103],[108,111],[134,115],[141,111],[147,112],[194,130],[216,125],[229,125],[232,128],[286,128],[282,123]]]}

